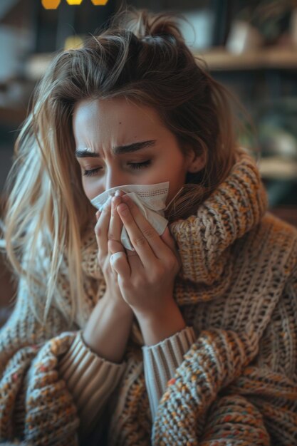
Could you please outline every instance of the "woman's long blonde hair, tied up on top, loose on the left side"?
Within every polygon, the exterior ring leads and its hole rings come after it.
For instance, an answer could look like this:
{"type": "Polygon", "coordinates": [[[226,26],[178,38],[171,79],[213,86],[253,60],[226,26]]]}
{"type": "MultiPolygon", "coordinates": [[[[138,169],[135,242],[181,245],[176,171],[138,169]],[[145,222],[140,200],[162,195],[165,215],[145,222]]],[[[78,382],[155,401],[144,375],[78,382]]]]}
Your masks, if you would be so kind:
{"type": "MultiPolygon", "coordinates": [[[[43,322],[55,301],[71,325],[83,300],[81,241],[95,209],[83,192],[75,160],[71,118],[78,101],[122,96],[149,105],[182,151],[191,146],[197,155],[204,153],[204,169],[188,175],[167,209],[170,221],[195,213],[234,165],[239,147],[228,93],[189,51],[176,19],[134,9],[118,14],[83,48],[56,55],[36,86],[6,182],[4,240],[14,274],[26,280],[34,311],[41,299],[35,285],[46,287],[43,322]],[[38,265],[46,259],[44,284],[38,265]],[[57,292],[63,261],[71,314],[57,292]]],[[[41,321],[39,316],[36,312],[41,321]]]]}

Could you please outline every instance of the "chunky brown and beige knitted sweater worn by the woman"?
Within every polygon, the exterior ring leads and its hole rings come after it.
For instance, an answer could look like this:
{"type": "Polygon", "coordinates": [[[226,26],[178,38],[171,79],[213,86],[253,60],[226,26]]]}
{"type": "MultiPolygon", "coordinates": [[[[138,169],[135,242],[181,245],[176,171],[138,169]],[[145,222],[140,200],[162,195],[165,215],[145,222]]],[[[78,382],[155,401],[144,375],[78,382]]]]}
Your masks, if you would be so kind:
{"type": "MultiPolygon", "coordinates": [[[[195,215],[170,224],[182,260],[174,299],[194,333],[178,361],[170,346],[182,333],[146,348],[136,320],[123,364],[84,345],[81,331],[105,291],[93,227],[82,246],[85,309],[71,330],[55,305],[41,327],[21,280],[0,332],[0,439],[78,445],[92,405],[100,407],[95,419],[90,412],[93,426],[105,427],[98,445],[297,444],[297,231],[266,206],[254,161],[241,155],[195,215]],[[110,393],[98,388],[93,396],[86,383],[102,380],[103,366],[106,380],[109,370],[118,377],[110,393]],[[152,417],[148,390],[159,380],[148,376],[158,370],[170,379],[152,417]]],[[[70,306],[63,271],[58,290],[70,306]]],[[[36,292],[42,306],[44,290],[36,292]]]]}

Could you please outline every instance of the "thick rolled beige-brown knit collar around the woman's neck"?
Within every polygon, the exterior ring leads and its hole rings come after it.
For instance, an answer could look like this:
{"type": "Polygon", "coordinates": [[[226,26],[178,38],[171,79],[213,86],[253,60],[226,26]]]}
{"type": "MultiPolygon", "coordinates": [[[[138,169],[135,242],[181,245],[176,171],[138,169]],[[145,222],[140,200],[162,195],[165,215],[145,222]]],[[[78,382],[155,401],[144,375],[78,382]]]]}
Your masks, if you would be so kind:
{"type": "MultiPolygon", "coordinates": [[[[231,245],[261,222],[266,209],[267,195],[259,170],[254,159],[243,152],[226,180],[199,205],[195,215],[170,224],[182,260],[176,286],[180,304],[193,303],[187,293],[179,294],[181,281],[190,288],[199,284],[199,300],[222,294],[221,279],[227,284],[231,274],[231,245]]],[[[83,269],[88,276],[102,278],[93,229],[83,245],[83,269]]]]}

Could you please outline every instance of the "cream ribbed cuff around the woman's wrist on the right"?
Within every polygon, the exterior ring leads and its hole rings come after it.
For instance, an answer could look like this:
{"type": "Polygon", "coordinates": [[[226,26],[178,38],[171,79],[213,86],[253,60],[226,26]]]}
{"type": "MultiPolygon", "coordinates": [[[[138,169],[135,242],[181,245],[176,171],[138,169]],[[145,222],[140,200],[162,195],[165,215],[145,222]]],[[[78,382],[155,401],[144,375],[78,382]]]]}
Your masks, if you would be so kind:
{"type": "Polygon", "coordinates": [[[186,327],[154,346],[142,347],[145,385],[152,420],[155,418],[160,398],[167,388],[167,382],[174,376],[175,370],[183,361],[184,353],[187,353],[194,341],[193,328],[186,327]]]}

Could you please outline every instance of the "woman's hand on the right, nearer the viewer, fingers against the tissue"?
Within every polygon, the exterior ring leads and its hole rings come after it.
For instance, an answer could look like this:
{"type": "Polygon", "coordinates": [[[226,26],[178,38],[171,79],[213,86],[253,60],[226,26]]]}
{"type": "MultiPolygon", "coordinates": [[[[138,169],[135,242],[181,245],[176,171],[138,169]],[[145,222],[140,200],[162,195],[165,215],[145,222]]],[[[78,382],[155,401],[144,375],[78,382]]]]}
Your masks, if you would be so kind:
{"type": "Polygon", "coordinates": [[[172,305],[174,279],[180,262],[174,239],[166,228],[160,236],[127,195],[116,206],[135,251],[110,261],[123,299],[136,316],[150,316],[172,305]]]}

